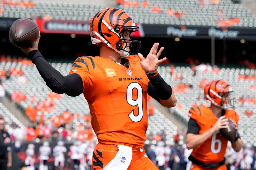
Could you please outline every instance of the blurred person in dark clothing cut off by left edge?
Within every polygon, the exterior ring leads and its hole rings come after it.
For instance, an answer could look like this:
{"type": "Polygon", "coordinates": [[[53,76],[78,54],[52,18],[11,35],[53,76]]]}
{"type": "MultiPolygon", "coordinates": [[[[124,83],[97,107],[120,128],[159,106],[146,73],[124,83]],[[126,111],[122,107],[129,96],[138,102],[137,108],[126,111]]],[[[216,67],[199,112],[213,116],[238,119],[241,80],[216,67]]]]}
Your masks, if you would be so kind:
{"type": "Polygon", "coordinates": [[[0,115],[0,169],[6,170],[12,166],[12,148],[10,146],[11,138],[5,130],[5,120],[0,115]]]}

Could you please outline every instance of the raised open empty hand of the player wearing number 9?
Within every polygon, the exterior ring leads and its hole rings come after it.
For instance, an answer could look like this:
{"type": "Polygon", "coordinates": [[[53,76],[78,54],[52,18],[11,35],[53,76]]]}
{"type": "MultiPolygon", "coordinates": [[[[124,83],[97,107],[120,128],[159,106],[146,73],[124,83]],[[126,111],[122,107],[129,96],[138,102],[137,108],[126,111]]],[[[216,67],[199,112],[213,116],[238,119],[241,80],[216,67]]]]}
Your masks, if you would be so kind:
{"type": "Polygon", "coordinates": [[[161,60],[158,60],[159,56],[161,55],[162,51],[164,50],[164,47],[161,47],[160,50],[158,51],[158,46],[159,46],[158,42],[154,43],[153,47],[151,48],[151,50],[145,60],[143,58],[143,55],[138,53],[138,56],[140,57],[140,64],[144,71],[156,72],[158,65],[160,63],[163,63],[166,60],[166,57],[164,57],[161,60]]]}

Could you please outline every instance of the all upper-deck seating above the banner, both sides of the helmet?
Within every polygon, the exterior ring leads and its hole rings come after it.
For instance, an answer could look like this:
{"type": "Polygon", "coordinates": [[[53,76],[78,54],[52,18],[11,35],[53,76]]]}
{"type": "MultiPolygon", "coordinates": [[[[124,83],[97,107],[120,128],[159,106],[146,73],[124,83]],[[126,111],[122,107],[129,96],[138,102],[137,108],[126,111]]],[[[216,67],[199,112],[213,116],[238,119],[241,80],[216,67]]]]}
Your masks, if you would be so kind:
{"type": "MultiPolygon", "coordinates": [[[[135,23],[171,24],[187,26],[255,27],[255,16],[243,4],[230,0],[218,3],[201,0],[131,0],[118,5],[128,12],[135,23]],[[129,3],[130,2],[130,3],[129,3]],[[147,5],[143,6],[143,3],[147,5]],[[203,4],[204,2],[204,4],[203,4]]],[[[0,4],[0,17],[44,18],[60,20],[85,20],[101,9],[104,4],[78,4],[50,1],[35,1],[35,6],[0,4]]]]}

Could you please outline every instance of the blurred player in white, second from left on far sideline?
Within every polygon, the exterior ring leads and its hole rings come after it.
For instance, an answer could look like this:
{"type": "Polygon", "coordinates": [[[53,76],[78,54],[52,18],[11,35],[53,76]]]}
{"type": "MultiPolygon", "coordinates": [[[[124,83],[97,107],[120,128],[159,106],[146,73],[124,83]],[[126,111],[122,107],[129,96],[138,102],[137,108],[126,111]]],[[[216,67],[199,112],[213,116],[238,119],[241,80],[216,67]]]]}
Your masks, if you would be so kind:
{"type": "Polygon", "coordinates": [[[49,147],[49,142],[44,141],[43,146],[39,147],[39,160],[40,160],[40,170],[48,170],[47,161],[49,159],[49,155],[51,154],[51,148],[49,147]]]}

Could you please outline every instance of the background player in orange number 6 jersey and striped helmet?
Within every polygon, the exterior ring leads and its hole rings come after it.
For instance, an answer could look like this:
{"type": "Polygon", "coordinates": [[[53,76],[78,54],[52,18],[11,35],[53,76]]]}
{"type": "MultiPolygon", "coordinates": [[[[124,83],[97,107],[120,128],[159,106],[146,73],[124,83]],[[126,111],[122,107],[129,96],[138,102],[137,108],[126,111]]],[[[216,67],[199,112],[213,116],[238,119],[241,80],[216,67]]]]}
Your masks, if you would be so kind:
{"type": "MultiPolygon", "coordinates": [[[[193,106],[189,110],[186,144],[188,149],[193,148],[189,156],[192,165],[187,166],[190,169],[227,169],[224,154],[228,140],[220,135],[219,130],[227,127],[228,119],[232,120],[237,129],[239,115],[232,109],[235,103],[230,95],[232,92],[233,89],[226,81],[213,80],[204,89],[204,96],[211,102],[211,106],[193,106]]],[[[242,140],[238,133],[231,142],[233,149],[239,152],[242,140]]]]}

